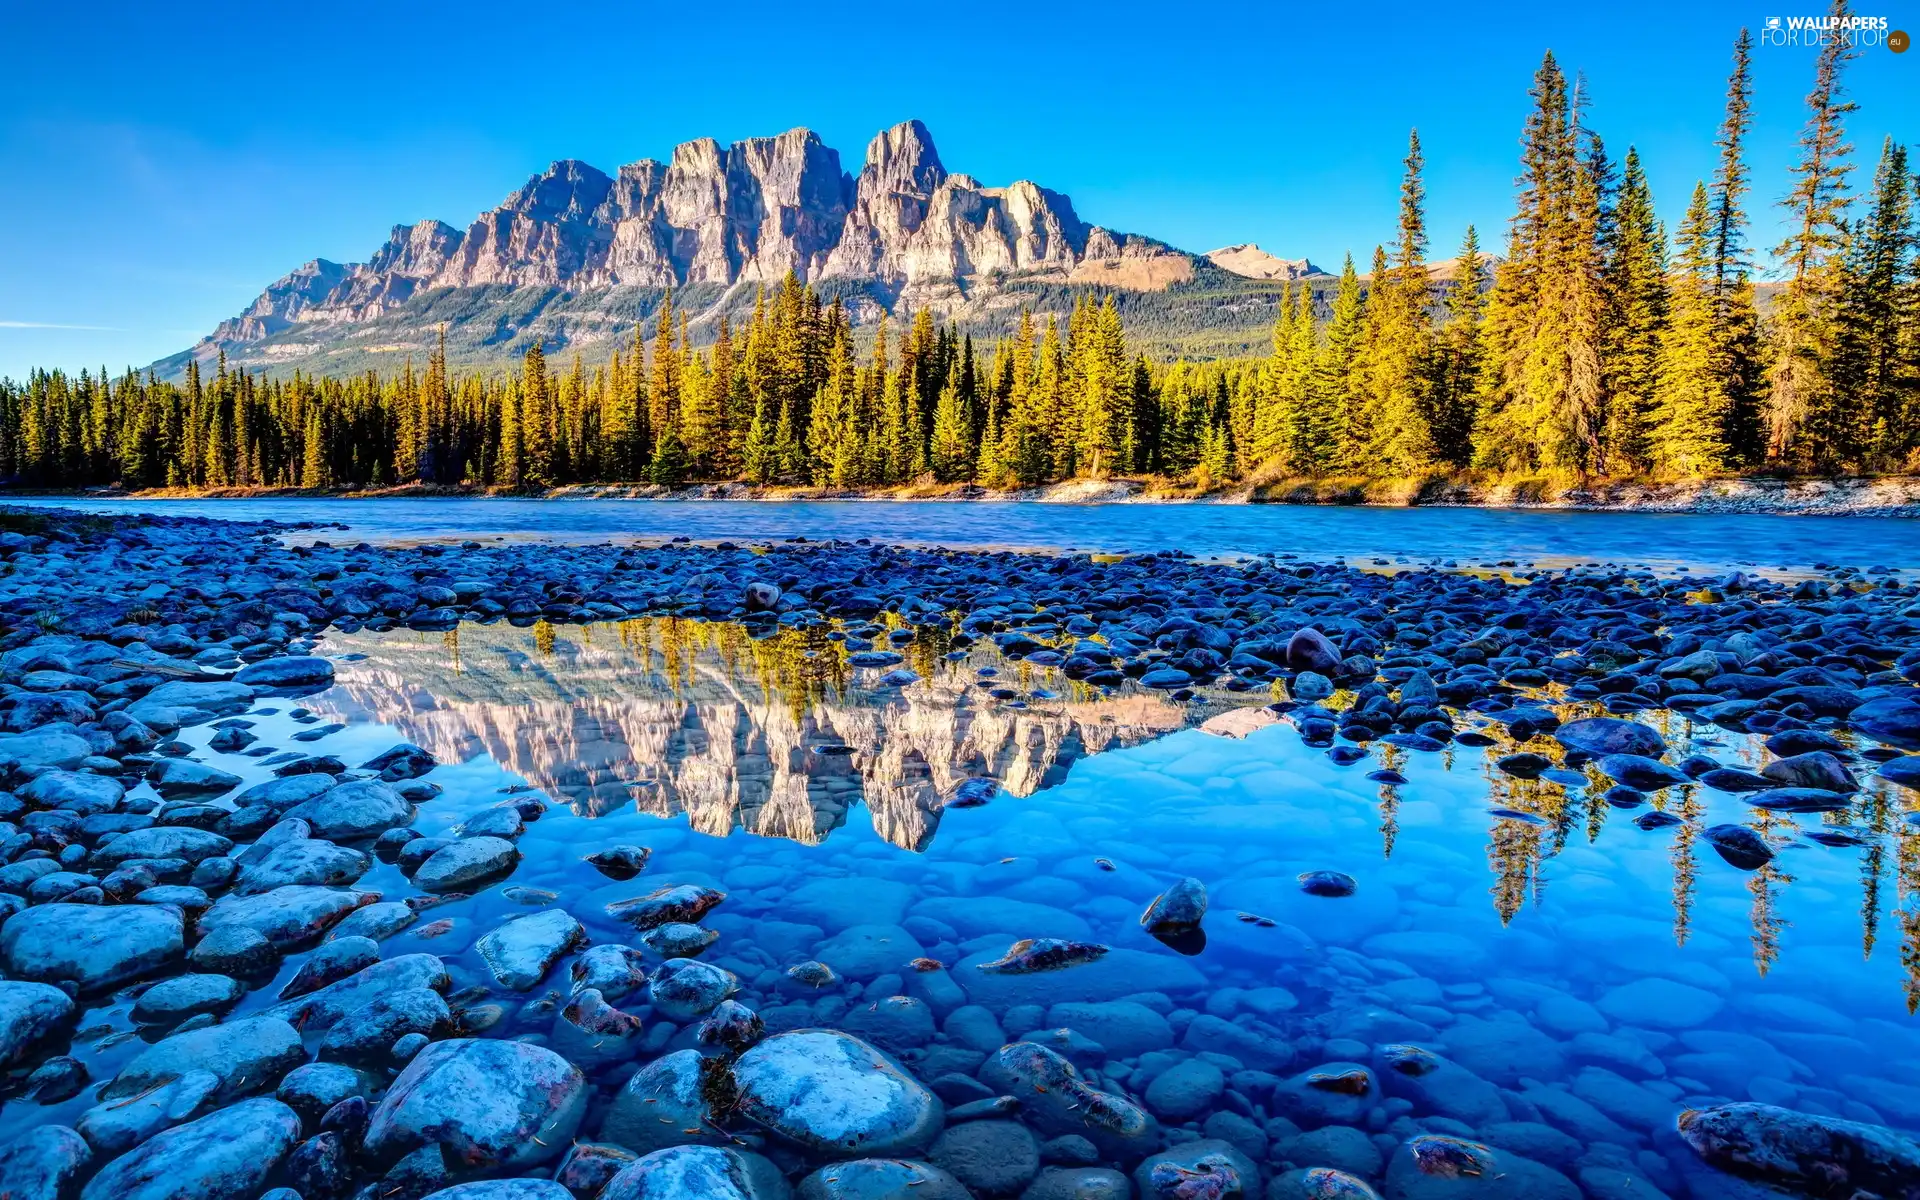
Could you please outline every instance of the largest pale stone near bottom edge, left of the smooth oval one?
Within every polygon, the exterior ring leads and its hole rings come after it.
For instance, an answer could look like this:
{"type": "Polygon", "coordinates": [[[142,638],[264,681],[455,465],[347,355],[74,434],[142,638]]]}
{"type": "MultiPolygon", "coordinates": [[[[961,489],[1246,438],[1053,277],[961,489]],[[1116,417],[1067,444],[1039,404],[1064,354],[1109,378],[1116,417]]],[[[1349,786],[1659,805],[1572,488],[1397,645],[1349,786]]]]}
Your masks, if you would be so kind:
{"type": "Polygon", "coordinates": [[[432,1043],[374,1108],[367,1150],[396,1158],[438,1144],[461,1169],[524,1169],[559,1158],[586,1108],[586,1079],[553,1050],[493,1039],[432,1043]]]}

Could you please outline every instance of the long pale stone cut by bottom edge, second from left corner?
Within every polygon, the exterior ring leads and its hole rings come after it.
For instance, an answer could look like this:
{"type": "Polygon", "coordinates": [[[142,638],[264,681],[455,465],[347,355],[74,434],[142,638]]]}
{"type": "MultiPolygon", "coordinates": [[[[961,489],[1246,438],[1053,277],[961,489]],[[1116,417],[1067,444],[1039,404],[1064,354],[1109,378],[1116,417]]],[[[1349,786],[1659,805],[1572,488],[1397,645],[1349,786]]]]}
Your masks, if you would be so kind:
{"type": "Polygon", "coordinates": [[[300,1117],[278,1100],[242,1100],[115,1158],[81,1200],[250,1200],[300,1140],[300,1117]]]}

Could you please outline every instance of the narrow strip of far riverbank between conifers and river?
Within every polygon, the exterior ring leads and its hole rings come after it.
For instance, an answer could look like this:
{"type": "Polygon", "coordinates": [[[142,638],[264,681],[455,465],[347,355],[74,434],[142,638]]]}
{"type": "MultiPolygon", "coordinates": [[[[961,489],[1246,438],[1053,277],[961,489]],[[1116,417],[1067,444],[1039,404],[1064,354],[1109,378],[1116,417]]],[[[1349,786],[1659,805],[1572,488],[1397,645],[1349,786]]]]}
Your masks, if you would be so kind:
{"type": "MultiPolygon", "coordinates": [[[[0,501],[10,495],[0,492],[0,501]]],[[[664,501],[977,501],[1056,505],[1329,505],[1329,507],[1469,507],[1542,509],[1578,513],[1693,513],[1778,516],[1920,516],[1920,476],[1770,478],[1728,476],[1715,480],[1640,478],[1500,478],[1425,476],[1415,480],[1271,478],[1202,490],[1175,480],[1068,480],[1039,488],[993,490],[977,484],[912,484],[902,488],[780,488],[756,484],[570,484],[547,490],[409,484],[399,488],[154,488],[119,492],[13,492],[92,499],[664,499],[664,501]]]]}

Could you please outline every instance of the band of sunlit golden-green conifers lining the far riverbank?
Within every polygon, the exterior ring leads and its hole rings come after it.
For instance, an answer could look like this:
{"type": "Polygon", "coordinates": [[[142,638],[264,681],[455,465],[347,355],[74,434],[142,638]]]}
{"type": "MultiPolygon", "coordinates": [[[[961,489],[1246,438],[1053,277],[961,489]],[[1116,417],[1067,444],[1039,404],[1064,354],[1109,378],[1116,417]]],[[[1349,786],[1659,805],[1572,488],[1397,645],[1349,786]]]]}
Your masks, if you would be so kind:
{"type": "MultiPolygon", "coordinates": [[[[1836,12],[1841,12],[1836,8],[1836,12]]],[[[849,311],[789,276],[695,346],[662,303],[593,361],[532,346],[513,372],[180,382],[106,371],[0,382],[0,478],[35,488],[374,488],[749,480],[1029,486],[1156,474],[1436,472],[1692,478],[1920,468],[1920,179],[1891,138],[1847,142],[1853,50],[1818,56],[1780,180],[1778,288],[1757,294],[1745,163],[1753,42],[1734,46],[1711,179],[1680,227],[1640,156],[1615,159],[1551,54],[1532,84],[1517,209],[1494,257],[1467,228],[1428,261],[1409,138],[1392,244],[1361,276],[1300,282],[1261,359],[1150,363],[1112,298],[977,344],[849,311]],[[1463,267],[1475,265],[1475,267],[1463,267]]]]}

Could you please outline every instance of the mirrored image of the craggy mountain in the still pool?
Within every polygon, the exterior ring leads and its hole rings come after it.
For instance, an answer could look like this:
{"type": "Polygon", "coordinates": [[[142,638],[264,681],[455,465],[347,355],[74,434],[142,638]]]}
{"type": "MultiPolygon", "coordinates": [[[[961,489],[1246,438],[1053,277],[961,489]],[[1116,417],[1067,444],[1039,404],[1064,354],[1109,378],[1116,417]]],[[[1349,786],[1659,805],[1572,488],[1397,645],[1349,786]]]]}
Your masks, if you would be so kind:
{"type": "Polygon", "coordinates": [[[947,662],[925,630],[900,647],[922,676],[904,687],[849,666],[843,643],[816,632],[756,641],[737,624],[670,616],[336,636],[330,649],[349,660],[313,708],[336,720],[396,726],[442,762],[484,753],[582,816],[632,803],[703,833],[808,845],[864,803],[881,837],[924,849],[970,778],[1025,797],[1083,755],[1206,708],[1152,691],[1100,697],[991,649],[947,662]],[[1004,678],[977,678],[985,664],[1004,678]],[[1002,685],[1025,708],[989,695],[1002,685]]]}

